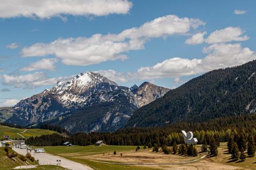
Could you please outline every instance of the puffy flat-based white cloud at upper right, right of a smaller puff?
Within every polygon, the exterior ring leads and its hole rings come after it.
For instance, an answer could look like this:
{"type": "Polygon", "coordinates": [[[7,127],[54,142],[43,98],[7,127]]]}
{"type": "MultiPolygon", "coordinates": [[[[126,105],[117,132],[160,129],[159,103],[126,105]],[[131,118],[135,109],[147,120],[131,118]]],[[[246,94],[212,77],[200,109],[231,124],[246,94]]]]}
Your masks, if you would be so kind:
{"type": "Polygon", "coordinates": [[[247,35],[242,35],[242,31],[239,27],[227,27],[222,30],[216,30],[212,32],[206,39],[205,42],[220,43],[220,42],[230,42],[230,41],[246,41],[249,39],[247,35]]]}

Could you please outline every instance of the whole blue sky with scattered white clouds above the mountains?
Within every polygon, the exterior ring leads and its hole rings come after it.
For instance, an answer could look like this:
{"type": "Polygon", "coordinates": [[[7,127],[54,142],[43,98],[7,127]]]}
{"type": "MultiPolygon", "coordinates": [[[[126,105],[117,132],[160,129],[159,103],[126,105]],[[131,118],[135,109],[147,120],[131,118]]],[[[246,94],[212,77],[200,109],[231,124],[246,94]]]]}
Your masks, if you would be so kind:
{"type": "Polygon", "coordinates": [[[256,1],[2,0],[0,106],[96,71],[177,88],[256,59],[256,1]]]}

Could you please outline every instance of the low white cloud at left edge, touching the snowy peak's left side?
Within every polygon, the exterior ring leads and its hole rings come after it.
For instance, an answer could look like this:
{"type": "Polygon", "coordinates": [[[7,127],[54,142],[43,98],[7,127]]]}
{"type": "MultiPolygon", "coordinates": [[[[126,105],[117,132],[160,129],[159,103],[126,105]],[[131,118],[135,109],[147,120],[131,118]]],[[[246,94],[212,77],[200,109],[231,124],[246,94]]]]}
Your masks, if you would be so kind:
{"type": "Polygon", "coordinates": [[[35,72],[34,74],[27,75],[3,75],[4,85],[23,87],[23,88],[36,88],[40,86],[54,85],[58,81],[68,81],[73,76],[49,78],[44,72],[35,72]]]}

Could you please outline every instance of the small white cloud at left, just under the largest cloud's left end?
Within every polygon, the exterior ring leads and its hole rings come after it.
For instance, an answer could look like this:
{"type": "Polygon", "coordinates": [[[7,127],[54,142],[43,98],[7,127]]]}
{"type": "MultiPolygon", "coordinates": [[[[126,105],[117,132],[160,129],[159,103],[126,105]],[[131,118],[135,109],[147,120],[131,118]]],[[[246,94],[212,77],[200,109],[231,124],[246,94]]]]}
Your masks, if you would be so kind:
{"type": "Polygon", "coordinates": [[[56,59],[56,58],[42,59],[42,60],[36,61],[34,63],[31,63],[26,67],[22,67],[22,68],[20,68],[20,70],[33,71],[33,70],[45,69],[45,70],[54,71],[56,69],[55,63],[57,61],[58,61],[58,59],[56,59]]]}

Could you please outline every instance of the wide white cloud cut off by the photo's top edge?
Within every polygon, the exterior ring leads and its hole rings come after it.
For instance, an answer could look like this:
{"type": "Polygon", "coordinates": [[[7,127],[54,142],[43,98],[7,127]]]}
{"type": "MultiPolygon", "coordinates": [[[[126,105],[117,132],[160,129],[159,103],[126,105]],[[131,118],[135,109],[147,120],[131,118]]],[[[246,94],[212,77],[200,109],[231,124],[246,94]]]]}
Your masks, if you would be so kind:
{"type": "Polygon", "coordinates": [[[0,18],[24,16],[45,19],[54,16],[62,18],[61,15],[106,16],[127,14],[132,5],[127,0],[2,0],[0,18]]]}

